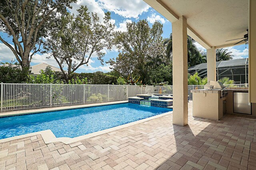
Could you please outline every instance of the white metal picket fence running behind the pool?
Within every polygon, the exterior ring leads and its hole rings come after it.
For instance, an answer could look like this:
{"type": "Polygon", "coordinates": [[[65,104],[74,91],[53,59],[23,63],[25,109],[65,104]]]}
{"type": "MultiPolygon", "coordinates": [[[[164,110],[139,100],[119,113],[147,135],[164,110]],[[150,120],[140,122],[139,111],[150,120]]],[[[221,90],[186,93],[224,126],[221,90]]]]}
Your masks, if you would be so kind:
{"type": "MultiPolygon", "coordinates": [[[[246,87],[247,84],[226,85],[246,87]]],[[[34,109],[127,100],[137,94],[172,94],[172,86],[128,86],[92,84],[10,84],[1,83],[1,111],[34,109]]],[[[188,86],[190,90],[203,89],[203,85],[188,86]]]]}

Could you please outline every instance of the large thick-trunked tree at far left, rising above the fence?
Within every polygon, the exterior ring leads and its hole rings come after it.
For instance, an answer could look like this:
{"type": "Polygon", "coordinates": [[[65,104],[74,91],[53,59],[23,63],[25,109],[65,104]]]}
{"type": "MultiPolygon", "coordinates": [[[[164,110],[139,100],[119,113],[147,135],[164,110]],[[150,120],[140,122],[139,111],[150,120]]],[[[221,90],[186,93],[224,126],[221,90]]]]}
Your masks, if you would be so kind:
{"type": "Polygon", "coordinates": [[[56,14],[72,8],[76,0],[0,0],[0,31],[12,38],[10,45],[2,36],[0,41],[9,47],[28,74],[30,62],[40,51],[42,39],[47,36],[48,25],[56,14]]]}

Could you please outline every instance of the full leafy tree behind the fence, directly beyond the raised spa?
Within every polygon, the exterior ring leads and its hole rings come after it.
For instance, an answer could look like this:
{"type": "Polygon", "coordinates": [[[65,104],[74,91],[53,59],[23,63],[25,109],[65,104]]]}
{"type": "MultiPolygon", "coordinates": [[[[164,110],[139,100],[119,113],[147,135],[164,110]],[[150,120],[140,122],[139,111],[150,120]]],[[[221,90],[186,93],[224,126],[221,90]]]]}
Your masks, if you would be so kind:
{"type": "Polygon", "coordinates": [[[158,21],[152,27],[146,20],[126,23],[127,31],[116,33],[115,43],[120,54],[108,61],[111,68],[124,76],[132,73],[140,76],[143,83],[149,82],[150,70],[161,63],[170,63],[165,53],[162,27],[158,21]]]}

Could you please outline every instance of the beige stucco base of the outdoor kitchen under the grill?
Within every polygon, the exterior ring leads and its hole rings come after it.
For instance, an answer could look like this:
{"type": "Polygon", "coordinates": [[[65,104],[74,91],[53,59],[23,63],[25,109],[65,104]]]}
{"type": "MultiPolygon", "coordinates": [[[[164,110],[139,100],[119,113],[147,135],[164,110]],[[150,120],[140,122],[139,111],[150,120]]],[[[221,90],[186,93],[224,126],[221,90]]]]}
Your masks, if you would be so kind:
{"type": "Polygon", "coordinates": [[[223,100],[219,93],[193,93],[193,116],[219,120],[223,114],[223,100]]]}

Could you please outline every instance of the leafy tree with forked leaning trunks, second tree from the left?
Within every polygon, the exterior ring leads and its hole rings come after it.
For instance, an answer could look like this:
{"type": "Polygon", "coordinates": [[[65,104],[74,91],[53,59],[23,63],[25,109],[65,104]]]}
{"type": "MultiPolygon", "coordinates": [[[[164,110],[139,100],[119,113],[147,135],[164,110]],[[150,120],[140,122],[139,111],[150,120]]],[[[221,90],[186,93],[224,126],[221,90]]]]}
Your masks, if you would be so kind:
{"type": "Polygon", "coordinates": [[[56,60],[66,81],[80,66],[88,65],[93,55],[103,64],[105,53],[102,50],[111,49],[114,43],[110,12],[106,12],[100,21],[96,13],[90,15],[86,6],[77,11],[77,16],[68,12],[60,16],[59,22],[53,23],[50,29],[50,38],[44,43],[46,53],[56,60]],[[64,66],[67,66],[67,72],[64,66]]]}

